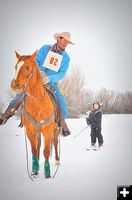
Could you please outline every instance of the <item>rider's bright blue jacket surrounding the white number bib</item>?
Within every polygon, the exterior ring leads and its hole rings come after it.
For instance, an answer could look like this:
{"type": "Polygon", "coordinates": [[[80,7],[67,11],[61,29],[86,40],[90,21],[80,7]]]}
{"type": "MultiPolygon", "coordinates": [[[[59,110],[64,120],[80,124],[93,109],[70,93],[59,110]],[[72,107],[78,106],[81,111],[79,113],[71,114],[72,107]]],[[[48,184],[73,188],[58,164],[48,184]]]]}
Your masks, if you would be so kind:
{"type": "Polygon", "coordinates": [[[68,70],[68,67],[69,67],[69,62],[70,62],[70,57],[69,55],[64,51],[62,51],[61,55],[63,56],[62,58],[62,61],[61,61],[61,65],[60,65],[60,68],[59,68],[59,71],[58,72],[55,72],[51,69],[47,69],[46,70],[46,67],[43,65],[44,64],[44,61],[46,59],[46,56],[49,52],[49,50],[51,50],[53,46],[52,45],[44,45],[42,46],[38,53],[37,53],[37,56],[36,56],[36,63],[38,64],[39,66],[39,69],[42,71],[42,72],[45,72],[48,79],[49,79],[49,83],[51,85],[53,85],[55,82],[58,82],[60,81],[66,74],[67,70],[68,70]]]}

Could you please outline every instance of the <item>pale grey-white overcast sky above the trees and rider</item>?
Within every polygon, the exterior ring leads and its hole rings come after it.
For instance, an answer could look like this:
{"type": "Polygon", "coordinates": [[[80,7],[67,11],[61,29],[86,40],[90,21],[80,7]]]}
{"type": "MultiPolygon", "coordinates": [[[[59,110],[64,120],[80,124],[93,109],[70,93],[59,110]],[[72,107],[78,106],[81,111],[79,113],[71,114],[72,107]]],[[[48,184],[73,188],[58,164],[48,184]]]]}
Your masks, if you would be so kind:
{"type": "Polygon", "coordinates": [[[1,0],[1,98],[14,75],[14,51],[32,54],[61,31],[72,34],[70,69],[80,66],[88,88],[132,89],[131,0],[1,0]]]}

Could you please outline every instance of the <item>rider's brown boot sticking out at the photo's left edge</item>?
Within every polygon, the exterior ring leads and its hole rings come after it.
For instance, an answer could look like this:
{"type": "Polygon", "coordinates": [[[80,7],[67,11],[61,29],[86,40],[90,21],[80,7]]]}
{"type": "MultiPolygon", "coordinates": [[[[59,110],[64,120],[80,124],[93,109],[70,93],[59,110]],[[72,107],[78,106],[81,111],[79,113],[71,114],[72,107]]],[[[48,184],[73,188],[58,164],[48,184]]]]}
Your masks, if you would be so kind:
{"type": "Polygon", "coordinates": [[[15,115],[15,111],[21,105],[21,101],[17,100],[12,106],[6,109],[6,111],[0,115],[0,125],[5,124],[7,120],[15,115]]]}

